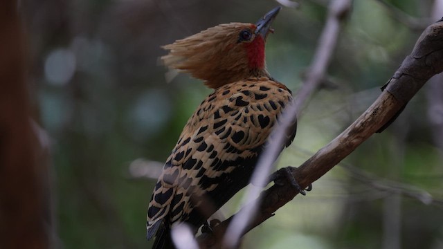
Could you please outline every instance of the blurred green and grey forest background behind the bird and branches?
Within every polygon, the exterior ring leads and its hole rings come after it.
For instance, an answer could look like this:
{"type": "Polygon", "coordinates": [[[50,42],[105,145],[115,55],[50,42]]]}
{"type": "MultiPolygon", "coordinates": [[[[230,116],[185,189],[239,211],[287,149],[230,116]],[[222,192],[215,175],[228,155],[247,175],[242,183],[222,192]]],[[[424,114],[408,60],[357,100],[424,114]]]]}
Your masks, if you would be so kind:
{"type": "MultiPolygon", "coordinates": [[[[278,167],[298,166],[367,109],[443,16],[436,0],[355,0],[328,84],[303,110],[278,167]]],[[[186,121],[211,91],[166,80],[162,45],[231,21],[255,23],[271,0],[19,1],[35,120],[51,151],[55,248],[150,248],[145,216],[186,121]],[[145,166],[148,165],[148,170],[145,166]]],[[[266,44],[275,79],[297,93],[329,1],[283,8],[266,44]]],[[[314,190],[249,232],[243,248],[443,248],[443,90],[433,80],[314,190]]],[[[439,86],[440,84],[440,86],[439,86]]],[[[225,209],[233,214],[241,194],[225,209]]]]}

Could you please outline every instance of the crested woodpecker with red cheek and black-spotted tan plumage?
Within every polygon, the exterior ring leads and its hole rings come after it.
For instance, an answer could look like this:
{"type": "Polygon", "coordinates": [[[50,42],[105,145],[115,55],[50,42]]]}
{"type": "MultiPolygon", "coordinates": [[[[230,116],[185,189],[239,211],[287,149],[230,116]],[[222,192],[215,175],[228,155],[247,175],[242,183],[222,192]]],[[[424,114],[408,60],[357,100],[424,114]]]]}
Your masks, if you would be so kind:
{"type": "MultiPolygon", "coordinates": [[[[165,66],[190,73],[214,91],[186,123],[155,185],[147,210],[153,248],[174,248],[174,223],[199,228],[248,185],[272,128],[292,100],[264,61],[266,38],[280,9],[256,24],[220,24],[163,46],[165,66]]],[[[281,149],[295,135],[296,121],[281,149]]]]}

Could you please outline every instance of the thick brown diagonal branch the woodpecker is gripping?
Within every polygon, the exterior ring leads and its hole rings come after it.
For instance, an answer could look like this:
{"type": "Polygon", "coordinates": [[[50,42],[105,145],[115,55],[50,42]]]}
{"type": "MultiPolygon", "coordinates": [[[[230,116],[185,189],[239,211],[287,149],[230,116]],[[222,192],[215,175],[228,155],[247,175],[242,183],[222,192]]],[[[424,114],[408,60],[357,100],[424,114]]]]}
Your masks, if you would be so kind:
{"type": "MultiPolygon", "coordinates": [[[[368,110],[298,169],[293,170],[293,176],[300,186],[303,188],[314,183],[373,133],[391,122],[429,78],[442,71],[443,21],[440,20],[424,30],[412,53],[404,59],[392,78],[383,86],[383,92],[368,110]]],[[[276,210],[291,201],[296,194],[298,192],[290,185],[273,185],[262,192],[259,212],[255,213],[253,221],[249,223],[243,234],[273,216],[276,210]]],[[[247,205],[244,208],[247,208],[247,205]]],[[[224,234],[231,219],[233,217],[215,227],[215,234],[224,234]]]]}

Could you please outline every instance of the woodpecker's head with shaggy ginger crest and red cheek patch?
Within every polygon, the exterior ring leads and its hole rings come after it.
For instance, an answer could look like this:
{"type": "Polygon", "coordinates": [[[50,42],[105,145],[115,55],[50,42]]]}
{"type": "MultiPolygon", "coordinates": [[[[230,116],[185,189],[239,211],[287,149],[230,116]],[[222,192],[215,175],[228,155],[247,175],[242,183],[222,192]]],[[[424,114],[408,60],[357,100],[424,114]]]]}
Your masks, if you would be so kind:
{"type": "Polygon", "coordinates": [[[161,60],[170,68],[204,80],[210,88],[269,76],[264,62],[264,44],[281,7],[274,8],[256,24],[220,24],[163,46],[169,54],[161,60]]]}

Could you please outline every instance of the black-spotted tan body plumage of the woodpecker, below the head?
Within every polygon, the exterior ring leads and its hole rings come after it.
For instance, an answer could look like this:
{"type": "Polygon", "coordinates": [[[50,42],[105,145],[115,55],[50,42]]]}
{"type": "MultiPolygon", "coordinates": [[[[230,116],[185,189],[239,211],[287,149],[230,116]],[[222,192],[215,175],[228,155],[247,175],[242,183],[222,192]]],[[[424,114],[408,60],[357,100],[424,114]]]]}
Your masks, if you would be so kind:
{"type": "MultiPolygon", "coordinates": [[[[183,129],[163,167],[147,212],[147,237],[157,229],[186,221],[198,228],[248,184],[272,127],[291,92],[269,77],[226,84],[204,100],[183,129]]],[[[295,136],[292,127],[288,144],[295,136]]]]}

